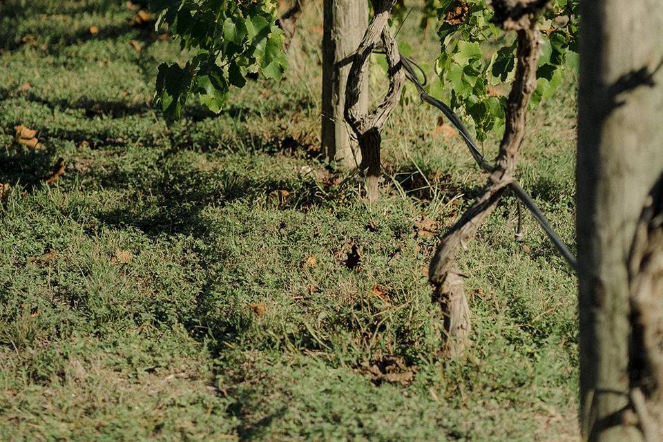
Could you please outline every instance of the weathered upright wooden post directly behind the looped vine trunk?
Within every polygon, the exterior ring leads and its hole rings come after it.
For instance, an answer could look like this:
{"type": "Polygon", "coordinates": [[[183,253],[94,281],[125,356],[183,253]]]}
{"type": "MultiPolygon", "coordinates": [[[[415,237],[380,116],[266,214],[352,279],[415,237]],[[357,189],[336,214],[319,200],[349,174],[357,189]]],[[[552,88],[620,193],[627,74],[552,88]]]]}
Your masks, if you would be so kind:
{"type": "MultiPolygon", "coordinates": [[[[358,166],[361,158],[352,129],[345,122],[345,88],[352,55],[368,25],[366,0],[325,0],[323,34],[323,151],[329,161],[346,169],[358,166]]],[[[368,79],[359,87],[358,108],[368,108],[368,79]]]]}

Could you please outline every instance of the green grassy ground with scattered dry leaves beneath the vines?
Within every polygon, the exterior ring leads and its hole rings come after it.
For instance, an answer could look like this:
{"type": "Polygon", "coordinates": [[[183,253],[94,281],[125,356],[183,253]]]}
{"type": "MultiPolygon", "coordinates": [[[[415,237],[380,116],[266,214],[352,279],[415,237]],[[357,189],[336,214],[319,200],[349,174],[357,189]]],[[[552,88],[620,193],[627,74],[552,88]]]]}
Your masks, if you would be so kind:
{"type": "MultiPolygon", "coordinates": [[[[442,363],[423,224],[445,231],[485,177],[412,90],[381,202],[321,162],[320,8],[285,81],[168,127],[149,102],[177,45],[124,1],[0,3],[1,440],[577,439],[573,274],[530,217],[512,240],[504,200],[459,256],[474,345],[442,363]],[[414,381],[380,382],[390,360],[414,381]]],[[[573,245],[569,77],[519,178],[573,245]]]]}

